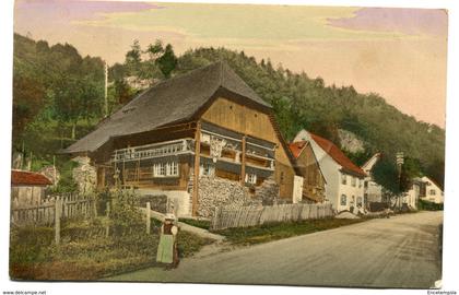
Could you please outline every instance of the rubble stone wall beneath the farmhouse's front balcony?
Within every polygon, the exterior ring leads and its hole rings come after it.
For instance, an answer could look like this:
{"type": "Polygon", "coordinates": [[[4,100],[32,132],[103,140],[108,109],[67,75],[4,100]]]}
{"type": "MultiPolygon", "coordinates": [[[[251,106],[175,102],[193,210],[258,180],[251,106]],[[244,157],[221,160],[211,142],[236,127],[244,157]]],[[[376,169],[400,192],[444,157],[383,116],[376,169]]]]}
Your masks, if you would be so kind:
{"type": "Polygon", "coordinates": [[[242,206],[254,202],[249,197],[248,189],[238,181],[228,179],[201,176],[199,178],[198,215],[211,217],[215,206],[231,205],[242,206]]]}

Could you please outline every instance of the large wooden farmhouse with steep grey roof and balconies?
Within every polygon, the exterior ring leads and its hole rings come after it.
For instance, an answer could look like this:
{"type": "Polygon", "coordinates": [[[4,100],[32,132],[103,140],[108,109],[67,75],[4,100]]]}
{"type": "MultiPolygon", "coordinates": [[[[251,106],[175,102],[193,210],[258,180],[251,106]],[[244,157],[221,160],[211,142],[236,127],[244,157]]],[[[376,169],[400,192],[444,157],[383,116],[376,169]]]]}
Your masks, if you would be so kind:
{"type": "Polygon", "coordinates": [[[64,152],[91,158],[98,189],[165,196],[180,216],[209,216],[261,188],[293,201],[294,160],[272,107],[224,62],[146,90],[64,152]]]}

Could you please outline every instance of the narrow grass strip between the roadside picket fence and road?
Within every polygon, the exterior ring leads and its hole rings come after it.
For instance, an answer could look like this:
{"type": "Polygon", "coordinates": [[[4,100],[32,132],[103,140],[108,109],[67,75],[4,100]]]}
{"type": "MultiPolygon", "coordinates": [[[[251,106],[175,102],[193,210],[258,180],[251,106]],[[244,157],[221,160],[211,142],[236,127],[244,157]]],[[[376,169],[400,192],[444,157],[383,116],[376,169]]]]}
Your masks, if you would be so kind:
{"type": "Polygon", "coordinates": [[[364,221],[365,220],[363,219],[308,220],[302,222],[271,223],[245,228],[227,228],[223,231],[215,231],[215,233],[225,236],[226,239],[234,245],[255,245],[298,235],[311,234],[320,231],[327,231],[340,226],[361,223],[364,221]]]}

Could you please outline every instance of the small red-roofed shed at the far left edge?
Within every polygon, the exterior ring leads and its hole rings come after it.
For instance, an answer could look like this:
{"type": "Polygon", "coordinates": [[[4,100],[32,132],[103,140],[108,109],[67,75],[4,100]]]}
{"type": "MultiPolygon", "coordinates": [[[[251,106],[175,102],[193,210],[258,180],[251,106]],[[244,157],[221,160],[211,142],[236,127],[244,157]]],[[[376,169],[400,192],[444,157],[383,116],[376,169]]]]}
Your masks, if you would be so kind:
{"type": "Polygon", "coordinates": [[[11,170],[11,202],[13,206],[39,204],[46,187],[52,182],[44,175],[33,172],[11,170]]]}

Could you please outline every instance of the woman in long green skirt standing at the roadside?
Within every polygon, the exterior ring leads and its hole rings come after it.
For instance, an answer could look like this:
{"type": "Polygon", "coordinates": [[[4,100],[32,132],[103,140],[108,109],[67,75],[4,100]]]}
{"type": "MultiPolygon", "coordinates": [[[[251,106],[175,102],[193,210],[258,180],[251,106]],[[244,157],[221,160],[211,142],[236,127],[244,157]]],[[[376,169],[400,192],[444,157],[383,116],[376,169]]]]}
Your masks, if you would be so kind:
{"type": "Polygon", "coordinates": [[[156,261],[169,264],[168,267],[177,267],[177,234],[178,227],[174,224],[175,215],[166,214],[164,223],[161,226],[160,244],[157,245],[156,261]]]}

